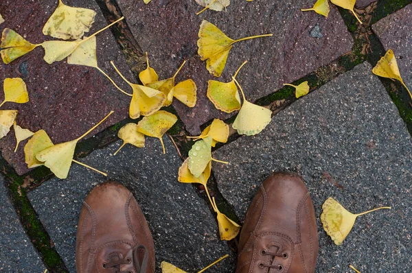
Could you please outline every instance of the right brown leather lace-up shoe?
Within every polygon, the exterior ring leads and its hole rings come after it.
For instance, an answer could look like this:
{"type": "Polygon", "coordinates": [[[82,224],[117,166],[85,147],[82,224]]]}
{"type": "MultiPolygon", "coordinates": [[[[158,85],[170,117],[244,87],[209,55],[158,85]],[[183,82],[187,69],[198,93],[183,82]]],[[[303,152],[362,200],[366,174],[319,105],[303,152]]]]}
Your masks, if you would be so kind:
{"type": "Polygon", "coordinates": [[[308,189],[299,176],[275,173],[255,195],[240,234],[236,273],[311,273],[318,252],[308,189]]]}

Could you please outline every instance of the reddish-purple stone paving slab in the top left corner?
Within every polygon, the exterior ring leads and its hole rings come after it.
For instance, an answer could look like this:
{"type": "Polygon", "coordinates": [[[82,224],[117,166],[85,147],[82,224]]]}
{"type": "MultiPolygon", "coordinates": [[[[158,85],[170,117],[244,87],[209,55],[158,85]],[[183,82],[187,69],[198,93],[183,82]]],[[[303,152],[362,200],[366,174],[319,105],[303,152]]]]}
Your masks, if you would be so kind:
{"type": "MultiPolygon", "coordinates": [[[[52,40],[51,36],[43,36],[43,25],[57,6],[57,0],[44,1],[1,1],[0,13],[5,19],[4,27],[14,29],[31,43],[42,43],[52,40]]],[[[67,0],[67,5],[91,8],[98,14],[89,34],[93,34],[107,25],[100,9],[93,0],[67,0]]],[[[87,35],[87,34],[86,34],[87,35]]],[[[91,126],[100,121],[110,110],[115,110],[108,121],[99,126],[98,131],[128,117],[130,98],[115,89],[104,75],[97,69],[67,64],[66,60],[47,64],[43,60],[43,48],[38,47],[10,64],[0,61],[1,86],[5,78],[23,78],[27,84],[30,102],[26,104],[6,103],[1,109],[18,109],[17,123],[33,132],[44,129],[54,143],[69,141],[79,137],[91,126]]],[[[109,63],[113,60],[119,69],[132,78],[122,52],[108,29],[98,35],[98,63],[100,68],[111,75],[115,82],[129,91],[121,78],[109,63]]],[[[130,91],[129,91],[130,92],[130,91]]],[[[0,92],[3,100],[3,92],[0,92]]],[[[24,163],[23,147],[14,153],[14,131],[1,139],[0,150],[18,174],[27,171],[24,163]]]]}

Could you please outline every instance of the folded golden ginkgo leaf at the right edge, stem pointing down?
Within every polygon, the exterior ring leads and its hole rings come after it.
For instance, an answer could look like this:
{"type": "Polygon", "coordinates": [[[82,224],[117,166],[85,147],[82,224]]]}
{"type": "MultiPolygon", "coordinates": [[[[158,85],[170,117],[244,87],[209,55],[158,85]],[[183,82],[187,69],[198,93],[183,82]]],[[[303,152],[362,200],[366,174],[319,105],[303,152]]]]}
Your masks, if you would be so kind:
{"type": "Polygon", "coordinates": [[[392,49],[389,49],[385,56],[380,58],[379,62],[376,64],[374,69],[372,69],[372,73],[378,75],[382,78],[390,78],[392,80],[398,80],[400,83],[407,88],[407,91],[412,99],[412,93],[409,91],[406,84],[402,80],[402,77],[399,72],[398,63],[396,62],[395,54],[393,54],[392,49]]]}

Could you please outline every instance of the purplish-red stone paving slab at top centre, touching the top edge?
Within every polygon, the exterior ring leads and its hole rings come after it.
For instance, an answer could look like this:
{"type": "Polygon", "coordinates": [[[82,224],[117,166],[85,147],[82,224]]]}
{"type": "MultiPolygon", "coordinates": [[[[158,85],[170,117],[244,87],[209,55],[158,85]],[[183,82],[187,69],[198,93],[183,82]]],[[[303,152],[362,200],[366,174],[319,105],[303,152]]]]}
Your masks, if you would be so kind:
{"type": "Polygon", "coordinates": [[[227,12],[207,10],[199,16],[195,13],[201,6],[196,1],[152,1],[148,5],[136,0],[117,2],[160,78],[171,77],[183,60],[188,61],[176,80],[192,78],[198,86],[198,102],[196,107],[187,108],[176,101],[174,107],[191,134],[199,134],[199,126],[212,118],[231,116],[216,110],[206,96],[207,81],[214,76],[197,55],[196,41],[203,19],[216,24],[233,39],[274,34],[271,38],[234,45],[220,78],[230,81],[240,64],[249,60],[238,80],[251,101],[330,63],[351,51],[353,45],[352,36],[334,6],[328,19],[315,12],[300,11],[312,7],[312,0],[231,1],[227,12]],[[319,27],[322,38],[310,35],[314,27],[319,27]]]}

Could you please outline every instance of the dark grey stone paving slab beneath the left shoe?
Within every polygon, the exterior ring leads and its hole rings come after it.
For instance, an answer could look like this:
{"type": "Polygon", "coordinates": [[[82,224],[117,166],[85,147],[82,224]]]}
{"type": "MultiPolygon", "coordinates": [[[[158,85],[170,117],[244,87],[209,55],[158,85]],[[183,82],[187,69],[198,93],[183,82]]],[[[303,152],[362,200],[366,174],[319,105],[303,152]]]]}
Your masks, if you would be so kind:
{"type": "MultiPolygon", "coordinates": [[[[126,145],[111,156],[121,144],[117,141],[80,161],[107,171],[109,179],[133,191],[155,240],[157,272],[161,261],[196,272],[224,254],[231,257],[209,272],[233,272],[234,255],[227,243],[218,239],[214,215],[192,185],[177,181],[181,159],[171,141],[163,139],[165,155],[159,140],[146,138],[143,149],[126,145]]],[[[82,202],[94,185],[105,180],[73,165],[67,180],[48,180],[28,194],[70,272],[76,272],[76,229],[82,202]]]]}

